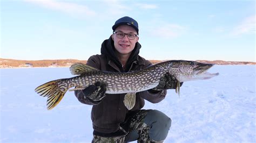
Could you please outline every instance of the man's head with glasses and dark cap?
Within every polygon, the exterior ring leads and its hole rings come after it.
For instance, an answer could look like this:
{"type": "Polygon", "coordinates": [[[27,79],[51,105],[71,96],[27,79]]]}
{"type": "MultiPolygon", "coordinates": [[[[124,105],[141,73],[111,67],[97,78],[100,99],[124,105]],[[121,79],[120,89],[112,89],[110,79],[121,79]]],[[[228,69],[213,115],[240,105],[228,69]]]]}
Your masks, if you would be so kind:
{"type": "Polygon", "coordinates": [[[133,51],[138,37],[138,23],[130,17],[122,17],[116,21],[112,27],[111,35],[114,47],[120,55],[129,55],[133,51]]]}

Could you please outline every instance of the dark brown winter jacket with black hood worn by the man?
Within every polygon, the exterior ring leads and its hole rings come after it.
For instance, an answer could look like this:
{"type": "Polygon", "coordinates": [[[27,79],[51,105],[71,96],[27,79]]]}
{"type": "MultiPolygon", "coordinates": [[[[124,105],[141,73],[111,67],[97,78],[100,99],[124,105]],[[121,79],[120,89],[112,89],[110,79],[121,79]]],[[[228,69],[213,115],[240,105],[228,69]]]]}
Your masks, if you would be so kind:
{"type": "MultiPolygon", "coordinates": [[[[138,55],[140,44],[137,42],[128,62],[126,69],[123,69],[120,62],[114,54],[112,39],[105,40],[102,44],[101,55],[93,55],[87,60],[86,65],[92,66],[99,70],[113,72],[127,72],[144,69],[151,66],[152,63],[138,55]]],[[[125,120],[129,110],[126,109],[123,100],[125,94],[107,94],[100,103],[92,103],[84,98],[82,90],[75,91],[75,95],[81,103],[93,105],[91,119],[93,129],[100,133],[113,133],[118,130],[119,124],[125,120]]],[[[166,90],[160,94],[151,94],[149,91],[136,93],[136,103],[130,111],[140,110],[144,106],[144,99],[152,103],[158,103],[165,98],[166,90]]]]}

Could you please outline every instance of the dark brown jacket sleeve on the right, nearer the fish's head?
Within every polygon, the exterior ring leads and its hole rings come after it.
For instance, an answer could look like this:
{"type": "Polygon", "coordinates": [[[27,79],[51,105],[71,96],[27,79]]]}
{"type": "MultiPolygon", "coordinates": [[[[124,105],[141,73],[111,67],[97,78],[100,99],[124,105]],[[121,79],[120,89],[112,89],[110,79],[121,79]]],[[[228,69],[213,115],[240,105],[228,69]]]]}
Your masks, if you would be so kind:
{"type": "MultiPolygon", "coordinates": [[[[152,66],[152,63],[150,61],[146,60],[145,68],[149,67],[149,66],[152,66]]],[[[167,93],[166,90],[161,90],[156,93],[153,93],[150,90],[138,92],[140,97],[146,99],[147,101],[149,101],[151,103],[158,103],[158,102],[162,101],[165,98],[166,93],[167,93]]]]}

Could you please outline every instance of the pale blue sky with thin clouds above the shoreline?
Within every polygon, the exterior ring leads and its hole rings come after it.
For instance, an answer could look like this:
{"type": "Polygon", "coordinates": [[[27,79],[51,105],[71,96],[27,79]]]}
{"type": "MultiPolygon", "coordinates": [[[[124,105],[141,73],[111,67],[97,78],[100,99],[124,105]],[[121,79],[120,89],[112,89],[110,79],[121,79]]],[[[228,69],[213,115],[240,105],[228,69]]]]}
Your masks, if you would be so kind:
{"type": "Polygon", "coordinates": [[[1,58],[100,54],[123,16],[139,23],[149,60],[255,60],[255,1],[1,1],[1,58]]]}

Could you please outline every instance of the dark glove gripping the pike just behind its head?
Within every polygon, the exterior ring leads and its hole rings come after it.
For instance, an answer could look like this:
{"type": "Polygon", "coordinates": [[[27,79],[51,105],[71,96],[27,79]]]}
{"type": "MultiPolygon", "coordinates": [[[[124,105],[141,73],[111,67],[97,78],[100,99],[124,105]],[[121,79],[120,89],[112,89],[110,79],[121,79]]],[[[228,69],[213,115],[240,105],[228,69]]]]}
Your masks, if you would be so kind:
{"type": "MultiPolygon", "coordinates": [[[[163,77],[160,78],[160,82],[157,87],[150,89],[149,91],[153,94],[157,94],[161,90],[165,89],[176,89],[178,81],[170,73],[166,73],[163,77]]],[[[180,87],[183,82],[180,82],[180,87]]]]}

